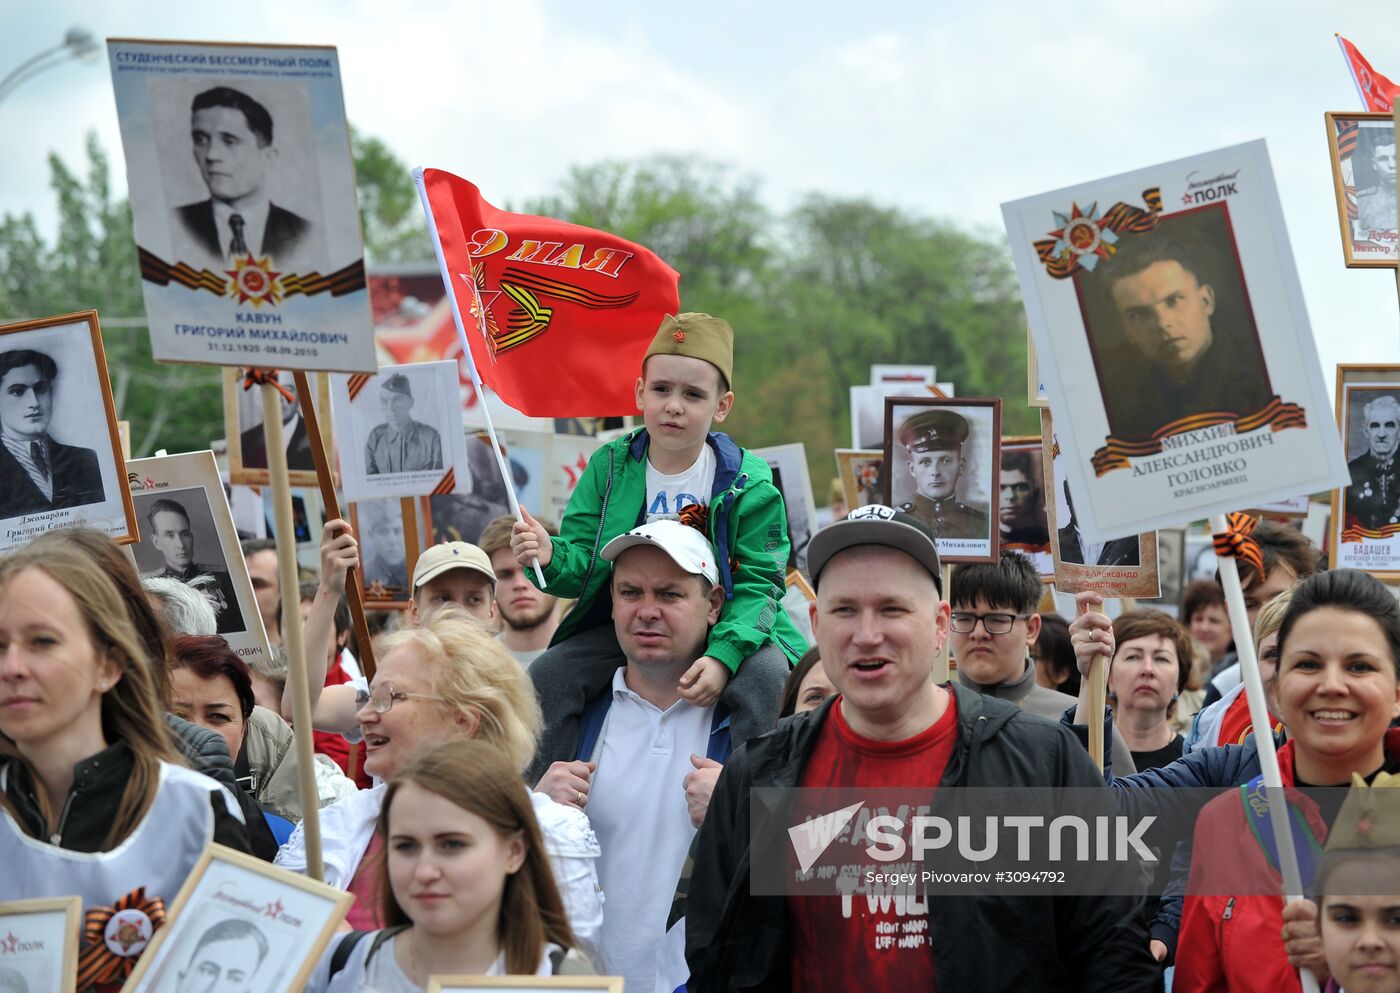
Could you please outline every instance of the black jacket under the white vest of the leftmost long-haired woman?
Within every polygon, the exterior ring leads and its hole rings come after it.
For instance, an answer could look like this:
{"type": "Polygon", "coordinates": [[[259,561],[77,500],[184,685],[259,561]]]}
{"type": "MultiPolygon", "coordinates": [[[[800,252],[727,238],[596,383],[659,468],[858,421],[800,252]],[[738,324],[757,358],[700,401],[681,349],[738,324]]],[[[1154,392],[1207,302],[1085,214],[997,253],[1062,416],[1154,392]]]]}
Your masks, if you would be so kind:
{"type": "MultiPolygon", "coordinates": [[[[102,852],[106,833],[112,829],[112,818],[122,803],[126,780],[134,768],[136,758],[122,742],[78,762],[73,768],[73,789],[60,811],[53,836],[48,836],[34,782],[17,761],[8,763],[6,800],[10,801],[15,821],[31,838],[42,838],[69,852],[102,852]]],[[[237,852],[248,852],[248,832],[224,808],[224,800],[217,793],[210,794],[210,805],[214,810],[214,842],[237,852]]]]}

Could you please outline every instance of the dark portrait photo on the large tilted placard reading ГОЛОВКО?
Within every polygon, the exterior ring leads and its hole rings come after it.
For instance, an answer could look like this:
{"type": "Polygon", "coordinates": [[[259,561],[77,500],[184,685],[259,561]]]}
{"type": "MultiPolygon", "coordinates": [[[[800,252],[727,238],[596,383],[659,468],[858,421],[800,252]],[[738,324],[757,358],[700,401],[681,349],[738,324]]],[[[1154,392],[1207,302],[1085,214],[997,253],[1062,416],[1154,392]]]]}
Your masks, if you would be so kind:
{"type": "Polygon", "coordinates": [[[1193,415],[1254,413],[1271,398],[1243,282],[1225,262],[1228,228],[1215,213],[1126,237],[1093,273],[1075,276],[1116,438],[1147,440],[1193,415]],[[1219,251],[1207,249],[1215,235],[1219,251]]]}

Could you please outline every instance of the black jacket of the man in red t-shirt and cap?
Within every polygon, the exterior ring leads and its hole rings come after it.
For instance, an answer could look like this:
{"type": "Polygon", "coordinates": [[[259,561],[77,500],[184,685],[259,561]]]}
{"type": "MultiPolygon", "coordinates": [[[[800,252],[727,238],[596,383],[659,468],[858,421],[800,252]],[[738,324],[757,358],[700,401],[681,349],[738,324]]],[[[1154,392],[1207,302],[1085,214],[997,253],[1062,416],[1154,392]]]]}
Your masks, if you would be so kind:
{"type": "MultiPolygon", "coordinates": [[[[1074,737],[997,699],[952,686],[958,742],[942,786],[1093,786],[1074,737]]],[[[797,786],[832,700],[735,751],[696,842],[686,908],[692,993],[791,986],[787,905],[749,892],[750,789],[797,786]]],[[[942,990],[1151,990],[1161,971],[1127,896],[946,896],[930,901],[942,990]]],[[[832,950],[830,954],[840,954],[832,950]]]]}

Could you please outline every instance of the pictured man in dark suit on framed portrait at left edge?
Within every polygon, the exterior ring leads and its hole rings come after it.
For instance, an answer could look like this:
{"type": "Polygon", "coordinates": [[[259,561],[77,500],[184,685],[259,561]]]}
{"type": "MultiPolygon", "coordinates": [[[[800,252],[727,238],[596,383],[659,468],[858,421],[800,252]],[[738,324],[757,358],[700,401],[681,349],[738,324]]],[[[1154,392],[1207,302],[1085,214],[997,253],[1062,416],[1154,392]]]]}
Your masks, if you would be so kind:
{"type": "Polygon", "coordinates": [[[97,452],[49,434],[57,378],[57,363],[43,352],[0,352],[0,518],[106,499],[97,452]]]}

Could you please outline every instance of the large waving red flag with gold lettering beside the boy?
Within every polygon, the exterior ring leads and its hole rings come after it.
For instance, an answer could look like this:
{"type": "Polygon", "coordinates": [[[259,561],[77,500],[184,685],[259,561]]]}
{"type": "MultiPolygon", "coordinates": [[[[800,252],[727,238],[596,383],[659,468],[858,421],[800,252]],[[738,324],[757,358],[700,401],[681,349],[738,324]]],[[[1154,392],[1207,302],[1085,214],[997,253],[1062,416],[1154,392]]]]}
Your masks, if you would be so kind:
{"type": "Polygon", "coordinates": [[[482,382],[535,417],[637,412],[633,385],[680,276],[580,224],[512,214],[466,179],[423,169],[449,293],[482,382]]]}

